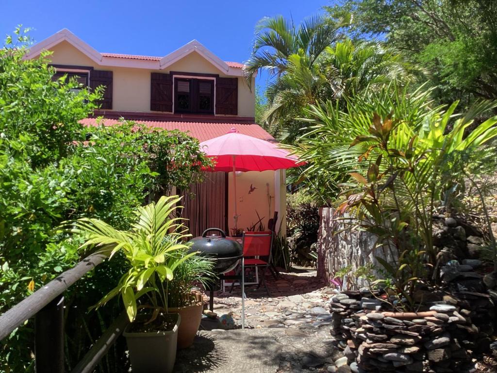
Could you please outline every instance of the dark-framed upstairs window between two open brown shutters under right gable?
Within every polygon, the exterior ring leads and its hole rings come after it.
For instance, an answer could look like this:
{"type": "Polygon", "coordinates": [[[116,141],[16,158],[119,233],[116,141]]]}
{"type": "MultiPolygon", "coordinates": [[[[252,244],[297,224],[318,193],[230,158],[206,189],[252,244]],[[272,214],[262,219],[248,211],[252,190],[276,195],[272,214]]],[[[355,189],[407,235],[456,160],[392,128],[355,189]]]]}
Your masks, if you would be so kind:
{"type": "Polygon", "coordinates": [[[214,80],[174,78],[174,112],[214,114],[214,80]]]}

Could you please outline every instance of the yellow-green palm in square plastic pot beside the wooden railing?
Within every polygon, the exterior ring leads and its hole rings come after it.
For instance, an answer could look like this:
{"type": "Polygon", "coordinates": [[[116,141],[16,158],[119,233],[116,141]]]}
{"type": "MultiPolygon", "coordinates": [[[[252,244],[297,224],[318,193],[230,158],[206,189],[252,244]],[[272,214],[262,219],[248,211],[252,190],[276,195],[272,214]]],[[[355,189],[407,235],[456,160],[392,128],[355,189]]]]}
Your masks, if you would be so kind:
{"type": "Polygon", "coordinates": [[[117,230],[98,219],[78,220],[72,231],[87,239],[82,247],[121,251],[130,268],[118,285],[97,304],[120,295],[130,324],[124,336],[133,372],[172,372],[176,357],[178,313],[169,313],[168,288],[174,271],[195,253],[186,253],[187,229],[175,216],[178,196],[163,196],[157,203],[139,207],[137,222],[128,231],[117,230]]]}

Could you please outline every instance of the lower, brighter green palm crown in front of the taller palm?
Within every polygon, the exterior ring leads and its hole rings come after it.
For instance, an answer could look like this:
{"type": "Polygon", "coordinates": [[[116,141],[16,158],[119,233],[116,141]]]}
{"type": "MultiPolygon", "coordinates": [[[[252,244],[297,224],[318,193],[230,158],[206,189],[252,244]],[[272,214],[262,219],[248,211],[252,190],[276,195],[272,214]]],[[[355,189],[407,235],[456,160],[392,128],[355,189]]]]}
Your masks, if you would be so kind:
{"type": "Polygon", "coordinates": [[[293,54],[287,58],[284,74],[268,85],[269,105],[263,119],[273,136],[292,143],[303,126],[295,118],[307,116],[308,105],[331,99],[345,107],[344,97],[393,81],[408,82],[414,73],[400,54],[379,43],[338,41],[314,63],[293,54]]]}

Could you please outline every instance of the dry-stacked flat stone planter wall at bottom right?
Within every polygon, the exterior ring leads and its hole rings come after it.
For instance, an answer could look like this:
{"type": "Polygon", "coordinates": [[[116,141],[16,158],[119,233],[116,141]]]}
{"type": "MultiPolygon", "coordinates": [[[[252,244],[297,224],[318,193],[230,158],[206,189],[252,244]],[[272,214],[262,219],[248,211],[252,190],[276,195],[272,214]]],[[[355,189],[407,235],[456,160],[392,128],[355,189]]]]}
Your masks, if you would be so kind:
{"type": "Polygon", "coordinates": [[[488,323],[493,303],[485,294],[459,295],[403,315],[385,311],[387,303],[369,292],[333,296],[331,335],[345,356],[335,362],[336,370],[348,365],[354,373],[473,372],[471,352],[490,344],[488,331],[477,325],[488,323]],[[487,320],[480,319],[481,308],[487,320]]]}

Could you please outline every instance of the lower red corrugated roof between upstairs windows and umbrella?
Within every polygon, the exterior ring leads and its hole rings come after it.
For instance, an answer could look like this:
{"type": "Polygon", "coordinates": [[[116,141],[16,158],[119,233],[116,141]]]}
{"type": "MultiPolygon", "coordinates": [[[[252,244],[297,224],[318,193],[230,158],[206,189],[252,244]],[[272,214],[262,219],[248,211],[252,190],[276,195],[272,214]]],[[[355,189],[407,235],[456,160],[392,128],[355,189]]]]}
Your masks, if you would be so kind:
{"type": "MultiPolygon", "coordinates": [[[[86,118],[80,122],[84,125],[96,125],[97,118],[86,118]]],[[[119,119],[104,118],[103,124],[111,126],[119,123],[119,119]]],[[[232,128],[244,135],[252,136],[261,140],[272,141],[274,138],[264,131],[257,124],[241,124],[241,123],[222,123],[222,122],[184,122],[184,121],[156,121],[156,120],[136,120],[137,123],[145,124],[149,127],[163,128],[166,130],[178,129],[182,132],[189,133],[190,136],[196,137],[200,142],[210,140],[218,136],[222,136],[232,128]]]]}

